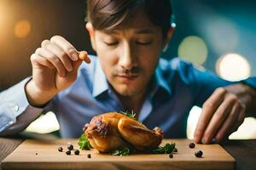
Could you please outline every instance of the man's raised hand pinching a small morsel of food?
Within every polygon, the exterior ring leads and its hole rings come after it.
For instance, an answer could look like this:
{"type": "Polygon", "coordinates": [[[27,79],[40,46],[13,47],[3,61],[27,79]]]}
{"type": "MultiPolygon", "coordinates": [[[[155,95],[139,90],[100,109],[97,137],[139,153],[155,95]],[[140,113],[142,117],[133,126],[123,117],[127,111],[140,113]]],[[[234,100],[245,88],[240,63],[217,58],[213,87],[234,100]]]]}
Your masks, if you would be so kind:
{"type": "Polygon", "coordinates": [[[26,84],[31,105],[44,105],[55,94],[69,87],[77,77],[82,61],[90,63],[86,52],[78,52],[61,36],[44,40],[31,56],[32,80],[26,84]]]}

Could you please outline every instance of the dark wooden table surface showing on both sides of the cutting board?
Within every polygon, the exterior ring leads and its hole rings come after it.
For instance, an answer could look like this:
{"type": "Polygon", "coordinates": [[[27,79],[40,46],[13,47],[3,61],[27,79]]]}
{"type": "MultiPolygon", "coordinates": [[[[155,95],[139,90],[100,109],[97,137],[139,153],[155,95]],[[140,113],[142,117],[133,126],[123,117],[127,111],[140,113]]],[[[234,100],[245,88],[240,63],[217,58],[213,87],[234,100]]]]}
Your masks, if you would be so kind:
{"type": "MultiPolygon", "coordinates": [[[[22,139],[0,138],[0,169],[1,161],[18,147],[22,139]]],[[[255,169],[256,139],[253,140],[230,140],[221,144],[225,150],[236,159],[237,170],[255,169]]]]}

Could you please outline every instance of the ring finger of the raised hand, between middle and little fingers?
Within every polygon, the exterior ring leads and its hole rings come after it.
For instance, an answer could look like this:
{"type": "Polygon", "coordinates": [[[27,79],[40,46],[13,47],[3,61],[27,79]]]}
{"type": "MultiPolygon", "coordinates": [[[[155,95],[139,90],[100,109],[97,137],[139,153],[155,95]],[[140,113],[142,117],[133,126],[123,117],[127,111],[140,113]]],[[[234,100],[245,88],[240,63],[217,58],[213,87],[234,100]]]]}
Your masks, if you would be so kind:
{"type": "Polygon", "coordinates": [[[44,56],[45,59],[49,60],[49,62],[55,66],[55,69],[58,71],[60,77],[65,77],[66,69],[64,65],[62,65],[61,60],[55,54],[52,54],[45,48],[38,48],[36,50],[36,54],[44,56]]]}

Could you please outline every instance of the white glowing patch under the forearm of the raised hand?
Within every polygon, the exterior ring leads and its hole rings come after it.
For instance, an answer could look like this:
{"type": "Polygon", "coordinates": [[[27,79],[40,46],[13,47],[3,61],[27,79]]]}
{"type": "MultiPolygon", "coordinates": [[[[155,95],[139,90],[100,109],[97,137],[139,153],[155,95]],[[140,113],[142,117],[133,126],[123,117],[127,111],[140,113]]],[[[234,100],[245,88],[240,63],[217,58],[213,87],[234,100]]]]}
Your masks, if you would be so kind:
{"type": "Polygon", "coordinates": [[[59,123],[53,112],[48,112],[43,116],[32,122],[29,127],[26,128],[26,132],[30,133],[51,133],[60,129],[59,123]]]}

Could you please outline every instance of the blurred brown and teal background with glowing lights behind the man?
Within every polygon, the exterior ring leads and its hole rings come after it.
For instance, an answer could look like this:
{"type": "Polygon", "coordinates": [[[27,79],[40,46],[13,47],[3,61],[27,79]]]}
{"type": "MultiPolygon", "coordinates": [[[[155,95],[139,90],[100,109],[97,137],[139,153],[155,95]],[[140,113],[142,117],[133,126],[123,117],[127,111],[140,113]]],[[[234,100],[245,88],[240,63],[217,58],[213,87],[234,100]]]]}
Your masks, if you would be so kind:
{"type": "MultiPolygon", "coordinates": [[[[84,29],[85,0],[0,0],[0,92],[31,75],[30,56],[44,39],[61,35],[79,50],[94,54],[84,29]]],[[[174,36],[163,57],[181,57],[226,80],[256,76],[256,1],[173,0],[174,36]]],[[[193,139],[201,108],[188,120],[193,139]]],[[[26,132],[55,133],[52,112],[26,132]],[[47,122],[47,123],[45,123],[47,122]]],[[[256,121],[248,117],[230,139],[256,139],[256,121]]]]}

